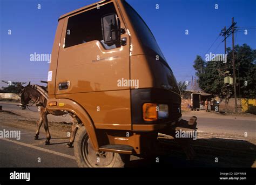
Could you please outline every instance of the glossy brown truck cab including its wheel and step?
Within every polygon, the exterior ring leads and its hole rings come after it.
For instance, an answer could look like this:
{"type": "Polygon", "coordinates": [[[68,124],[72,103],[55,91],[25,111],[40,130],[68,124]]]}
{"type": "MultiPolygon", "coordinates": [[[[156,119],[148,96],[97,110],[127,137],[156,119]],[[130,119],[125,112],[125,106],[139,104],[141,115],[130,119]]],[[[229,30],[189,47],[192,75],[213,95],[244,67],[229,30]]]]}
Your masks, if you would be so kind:
{"type": "Polygon", "coordinates": [[[58,19],[48,109],[83,123],[79,166],[117,167],[149,154],[181,120],[177,81],[152,32],[125,1],[100,1],[58,19]]]}

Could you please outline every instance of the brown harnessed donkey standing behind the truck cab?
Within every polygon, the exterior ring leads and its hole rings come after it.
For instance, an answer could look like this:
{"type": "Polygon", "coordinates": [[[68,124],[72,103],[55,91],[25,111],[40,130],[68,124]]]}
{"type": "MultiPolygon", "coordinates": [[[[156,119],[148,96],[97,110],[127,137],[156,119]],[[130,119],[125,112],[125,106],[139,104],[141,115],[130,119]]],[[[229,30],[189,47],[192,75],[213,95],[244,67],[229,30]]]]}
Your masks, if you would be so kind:
{"type": "MultiPolygon", "coordinates": [[[[34,88],[35,86],[30,85],[30,82],[27,86],[22,86],[21,84],[18,84],[18,87],[21,88],[21,92],[19,92],[19,97],[21,97],[21,104],[19,105],[22,109],[25,109],[26,106],[28,106],[29,102],[32,100],[33,104],[36,104],[38,107],[40,107],[40,119],[38,122],[38,128],[35,135],[35,140],[38,139],[39,131],[42,126],[42,123],[44,124],[44,129],[46,132],[46,141],[45,145],[50,144],[51,135],[49,132],[48,127],[48,119],[47,115],[64,115],[64,114],[70,114],[72,118],[72,134],[69,143],[67,144],[69,147],[72,147],[73,142],[75,141],[75,136],[77,129],[79,128],[79,125],[82,124],[80,119],[73,113],[68,111],[60,111],[60,110],[54,110],[51,111],[49,109],[46,109],[47,99],[43,94],[41,94],[39,91],[34,88]]],[[[42,86],[39,86],[43,88],[42,86]]]]}

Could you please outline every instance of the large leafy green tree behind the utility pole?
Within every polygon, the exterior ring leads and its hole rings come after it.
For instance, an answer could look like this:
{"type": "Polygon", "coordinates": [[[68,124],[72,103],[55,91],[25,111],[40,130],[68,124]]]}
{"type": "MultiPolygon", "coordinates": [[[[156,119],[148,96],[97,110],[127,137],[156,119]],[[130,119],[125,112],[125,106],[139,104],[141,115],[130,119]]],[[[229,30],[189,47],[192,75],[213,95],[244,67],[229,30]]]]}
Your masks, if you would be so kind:
{"type": "MultiPolygon", "coordinates": [[[[256,50],[252,50],[247,44],[236,45],[234,54],[238,96],[240,92],[242,98],[255,98],[256,50]]],[[[203,91],[214,95],[222,95],[221,88],[224,87],[224,76],[221,74],[230,71],[230,75],[233,77],[232,50],[230,47],[227,48],[226,64],[223,61],[213,60],[205,62],[200,56],[197,56],[193,67],[197,71],[198,84],[203,91]]],[[[233,92],[233,87],[230,88],[233,92]]]]}

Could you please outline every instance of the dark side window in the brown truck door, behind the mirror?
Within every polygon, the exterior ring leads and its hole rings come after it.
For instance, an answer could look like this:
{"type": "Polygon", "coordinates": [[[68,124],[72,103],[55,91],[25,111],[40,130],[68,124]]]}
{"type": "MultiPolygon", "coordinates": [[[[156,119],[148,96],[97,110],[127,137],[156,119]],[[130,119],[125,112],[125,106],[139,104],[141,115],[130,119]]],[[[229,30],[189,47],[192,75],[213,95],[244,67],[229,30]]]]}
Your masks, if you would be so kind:
{"type": "Polygon", "coordinates": [[[94,8],[69,17],[66,29],[65,48],[98,40],[106,50],[114,49],[116,44],[107,45],[103,41],[101,18],[116,13],[113,3],[94,8]]]}

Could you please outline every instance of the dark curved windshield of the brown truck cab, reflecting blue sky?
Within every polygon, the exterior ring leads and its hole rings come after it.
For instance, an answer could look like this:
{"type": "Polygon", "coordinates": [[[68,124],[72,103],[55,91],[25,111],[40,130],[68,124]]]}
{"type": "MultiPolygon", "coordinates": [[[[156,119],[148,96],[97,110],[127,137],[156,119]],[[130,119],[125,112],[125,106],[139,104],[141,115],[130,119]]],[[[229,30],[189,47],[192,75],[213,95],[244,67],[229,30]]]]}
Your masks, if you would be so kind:
{"type": "Polygon", "coordinates": [[[139,14],[127,2],[124,2],[124,7],[142,44],[150,51],[156,52],[161,58],[165,60],[164,55],[156,42],[156,39],[154,38],[152,32],[142,17],[140,17],[139,14]]]}

